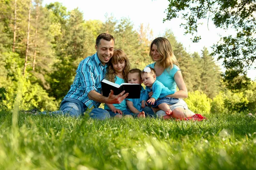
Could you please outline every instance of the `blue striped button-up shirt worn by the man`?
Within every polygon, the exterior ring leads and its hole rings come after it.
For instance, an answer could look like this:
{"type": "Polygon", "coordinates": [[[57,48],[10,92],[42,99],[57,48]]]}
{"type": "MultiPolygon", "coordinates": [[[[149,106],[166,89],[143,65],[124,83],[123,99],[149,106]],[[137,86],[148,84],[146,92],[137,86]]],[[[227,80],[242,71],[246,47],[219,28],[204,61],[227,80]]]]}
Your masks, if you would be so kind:
{"type": "Polygon", "coordinates": [[[83,59],[76,70],[76,77],[65,98],[78,99],[88,108],[98,108],[101,103],[88,98],[90,91],[101,94],[101,81],[104,79],[107,64],[102,65],[96,54],[83,59]]]}

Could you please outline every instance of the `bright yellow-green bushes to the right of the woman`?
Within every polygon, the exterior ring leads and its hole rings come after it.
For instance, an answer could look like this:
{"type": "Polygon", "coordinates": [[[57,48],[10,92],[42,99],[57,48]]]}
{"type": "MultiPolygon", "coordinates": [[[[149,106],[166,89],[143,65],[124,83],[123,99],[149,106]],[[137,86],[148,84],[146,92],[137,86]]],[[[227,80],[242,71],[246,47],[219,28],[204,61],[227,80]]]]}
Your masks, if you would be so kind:
{"type": "Polygon", "coordinates": [[[185,99],[189,109],[195,113],[209,112],[227,113],[241,111],[256,111],[256,83],[236,93],[225,90],[210,99],[200,91],[189,92],[185,99]]]}

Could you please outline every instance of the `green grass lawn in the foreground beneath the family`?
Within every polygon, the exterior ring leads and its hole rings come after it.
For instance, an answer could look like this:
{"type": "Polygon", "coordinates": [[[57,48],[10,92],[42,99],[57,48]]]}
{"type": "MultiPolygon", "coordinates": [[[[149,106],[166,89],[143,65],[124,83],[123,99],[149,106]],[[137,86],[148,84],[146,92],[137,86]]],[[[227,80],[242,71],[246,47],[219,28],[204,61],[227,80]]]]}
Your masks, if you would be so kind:
{"type": "Polygon", "coordinates": [[[256,119],[202,122],[0,112],[0,169],[256,169],[256,119]]]}

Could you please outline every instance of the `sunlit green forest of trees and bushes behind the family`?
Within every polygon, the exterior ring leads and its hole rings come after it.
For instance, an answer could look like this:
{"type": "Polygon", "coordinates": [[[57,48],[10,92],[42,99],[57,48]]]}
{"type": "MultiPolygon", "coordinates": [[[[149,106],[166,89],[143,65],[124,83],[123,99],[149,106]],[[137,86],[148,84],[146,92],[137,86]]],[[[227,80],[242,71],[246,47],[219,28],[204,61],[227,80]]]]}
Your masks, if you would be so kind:
{"type": "MultiPolygon", "coordinates": [[[[68,11],[61,3],[42,6],[41,0],[0,0],[0,105],[12,109],[20,91],[20,109],[57,110],[70,89],[79,62],[94,54],[98,34],[116,38],[115,49],[128,55],[131,68],[151,63],[149,26],[136,30],[129,18],[84,20],[78,8],[68,11]]],[[[227,88],[220,67],[207,48],[189,53],[171,30],[159,36],[172,44],[195,112],[256,110],[256,83],[247,88],[227,88]]],[[[230,85],[229,85],[230,86],[230,85]]],[[[232,85],[231,85],[232,86],[232,85]]]]}

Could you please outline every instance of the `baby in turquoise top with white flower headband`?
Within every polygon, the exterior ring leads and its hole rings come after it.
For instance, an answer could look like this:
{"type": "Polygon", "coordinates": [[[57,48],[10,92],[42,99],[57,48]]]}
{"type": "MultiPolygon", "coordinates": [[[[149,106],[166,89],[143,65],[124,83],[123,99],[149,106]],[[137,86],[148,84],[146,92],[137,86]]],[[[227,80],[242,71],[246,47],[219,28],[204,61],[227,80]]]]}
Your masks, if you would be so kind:
{"type": "Polygon", "coordinates": [[[169,105],[173,105],[179,102],[179,99],[166,96],[174,94],[175,91],[169,90],[169,88],[165,87],[156,79],[157,76],[154,68],[145,67],[141,72],[141,78],[144,85],[146,86],[145,101],[151,104],[151,107],[158,107],[165,111],[167,115],[172,115],[172,110],[169,108],[169,105]],[[153,91],[153,95],[150,99],[148,99],[148,93],[151,91],[153,91]]]}

